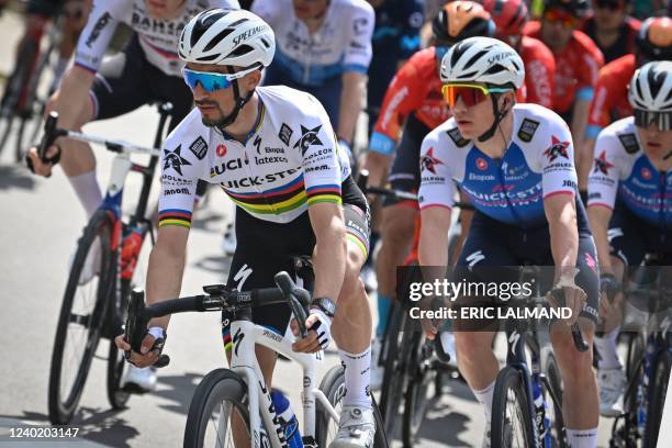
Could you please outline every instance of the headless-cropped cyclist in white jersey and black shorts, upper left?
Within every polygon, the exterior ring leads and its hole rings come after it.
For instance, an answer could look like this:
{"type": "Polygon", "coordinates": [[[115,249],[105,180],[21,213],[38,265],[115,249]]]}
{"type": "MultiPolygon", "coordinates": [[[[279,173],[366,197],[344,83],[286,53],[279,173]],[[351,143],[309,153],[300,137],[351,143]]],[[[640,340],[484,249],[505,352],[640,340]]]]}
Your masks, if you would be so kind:
{"type": "MultiPolygon", "coordinates": [[[[197,13],[212,7],[237,8],[236,0],[167,0],[156,5],[146,0],[96,2],[79,38],[75,66],[47,104],[47,113],[57,111],[59,126],[80,130],[85,123],[131,112],[153,101],[172,103],[170,128],[191,110],[193,98],[181,77],[182,63],[177,56],[179,32],[197,13]],[[130,25],[135,34],[126,48],[103,59],[116,25],[130,25]]],[[[96,158],[90,147],[60,138],[41,160],[36,148],[29,152],[34,172],[49,176],[60,158],[61,166],[77,197],[90,217],[102,201],[96,178],[96,158]],[[63,153],[63,154],[61,154],[63,153]]],[[[131,369],[128,376],[138,373],[131,369]]],[[[145,372],[148,372],[146,370],[145,372]]],[[[139,389],[156,385],[154,376],[138,378],[139,389]]]]}

